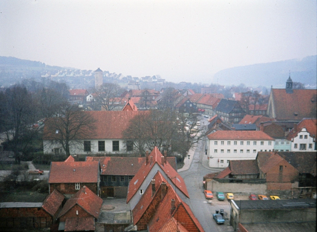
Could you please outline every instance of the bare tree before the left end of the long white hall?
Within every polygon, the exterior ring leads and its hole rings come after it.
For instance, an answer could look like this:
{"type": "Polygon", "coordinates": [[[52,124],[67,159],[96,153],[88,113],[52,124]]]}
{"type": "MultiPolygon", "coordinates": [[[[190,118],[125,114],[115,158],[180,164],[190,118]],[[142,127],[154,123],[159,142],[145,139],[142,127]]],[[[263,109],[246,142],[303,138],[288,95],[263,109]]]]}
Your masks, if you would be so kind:
{"type": "Polygon", "coordinates": [[[82,139],[94,133],[95,119],[89,112],[81,111],[77,105],[64,103],[55,117],[45,122],[43,139],[61,144],[67,156],[72,146],[81,145],[82,139]]]}

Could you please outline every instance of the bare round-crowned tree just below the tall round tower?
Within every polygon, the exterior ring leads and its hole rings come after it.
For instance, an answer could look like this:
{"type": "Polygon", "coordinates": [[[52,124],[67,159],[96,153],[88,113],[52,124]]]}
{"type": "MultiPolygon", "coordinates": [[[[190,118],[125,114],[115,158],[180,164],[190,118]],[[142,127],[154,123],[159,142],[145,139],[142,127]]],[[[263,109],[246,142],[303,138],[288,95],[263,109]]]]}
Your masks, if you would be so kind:
{"type": "Polygon", "coordinates": [[[94,99],[103,110],[111,111],[115,107],[114,103],[122,100],[121,94],[123,92],[124,89],[118,84],[104,83],[94,90],[94,99]]]}

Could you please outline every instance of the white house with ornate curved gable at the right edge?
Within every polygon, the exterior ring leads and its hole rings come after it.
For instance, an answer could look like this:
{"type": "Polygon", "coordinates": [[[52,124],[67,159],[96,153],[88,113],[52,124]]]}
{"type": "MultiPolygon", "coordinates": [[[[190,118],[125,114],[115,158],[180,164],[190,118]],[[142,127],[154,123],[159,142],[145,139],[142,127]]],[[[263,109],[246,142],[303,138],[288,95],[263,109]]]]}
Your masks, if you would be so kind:
{"type": "Polygon", "coordinates": [[[288,133],[291,151],[316,151],[316,119],[304,118],[288,133]]]}

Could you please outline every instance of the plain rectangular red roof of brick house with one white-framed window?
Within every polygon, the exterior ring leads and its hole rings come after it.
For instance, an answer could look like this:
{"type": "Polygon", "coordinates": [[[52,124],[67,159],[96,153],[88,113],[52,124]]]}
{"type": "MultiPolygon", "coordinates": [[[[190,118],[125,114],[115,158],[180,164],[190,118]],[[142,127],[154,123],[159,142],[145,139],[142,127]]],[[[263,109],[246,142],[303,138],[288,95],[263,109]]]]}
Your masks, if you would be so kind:
{"type": "Polygon", "coordinates": [[[49,183],[97,183],[99,168],[98,161],[52,162],[49,183]]]}

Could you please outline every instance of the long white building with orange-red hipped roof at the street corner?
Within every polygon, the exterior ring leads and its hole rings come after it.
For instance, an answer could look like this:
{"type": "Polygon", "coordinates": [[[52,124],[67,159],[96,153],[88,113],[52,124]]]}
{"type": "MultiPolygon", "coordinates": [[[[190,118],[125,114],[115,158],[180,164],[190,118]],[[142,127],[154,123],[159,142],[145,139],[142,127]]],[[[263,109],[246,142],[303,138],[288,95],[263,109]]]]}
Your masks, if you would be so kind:
{"type": "Polygon", "coordinates": [[[225,168],[229,160],[255,159],[258,151],[274,151],[274,139],[262,131],[216,131],[207,137],[212,168],[225,168]]]}

